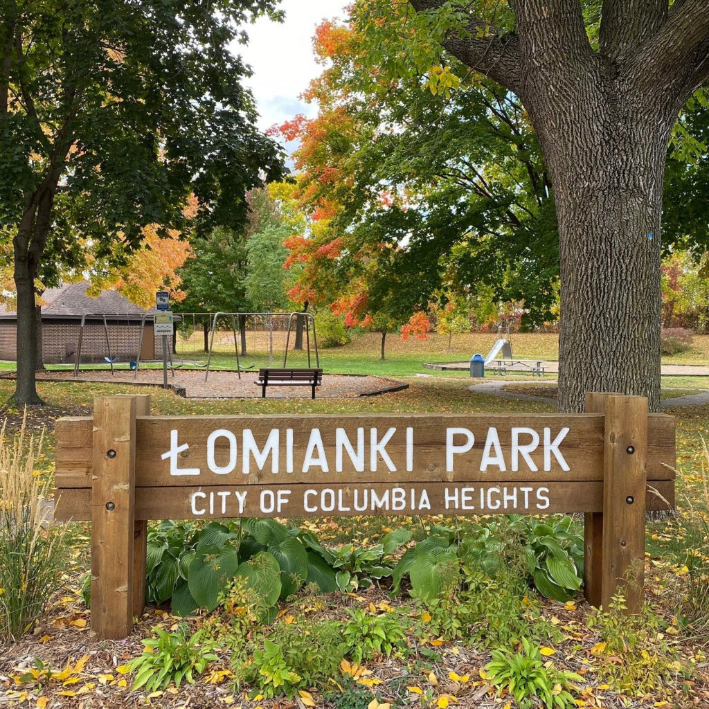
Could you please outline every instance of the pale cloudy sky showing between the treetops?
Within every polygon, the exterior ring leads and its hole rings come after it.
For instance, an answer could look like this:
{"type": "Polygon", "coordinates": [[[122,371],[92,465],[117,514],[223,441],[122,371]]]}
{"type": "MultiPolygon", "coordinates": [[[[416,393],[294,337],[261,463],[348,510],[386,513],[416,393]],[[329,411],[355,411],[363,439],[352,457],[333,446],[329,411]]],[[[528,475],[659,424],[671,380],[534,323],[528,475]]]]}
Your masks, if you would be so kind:
{"type": "Polygon", "coordinates": [[[315,108],[298,99],[323,70],[315,62],[311,40],[323,19],[344,18],[346,4],[347,0],[282,0],[279,7],[286,13],[284,23],[261,18],[247,26],[249,44],[238,45],[235,51],[254,70],[245,83],[261,114],[259,128],[266,130],[296,113],[315,116],[315,108]]]}

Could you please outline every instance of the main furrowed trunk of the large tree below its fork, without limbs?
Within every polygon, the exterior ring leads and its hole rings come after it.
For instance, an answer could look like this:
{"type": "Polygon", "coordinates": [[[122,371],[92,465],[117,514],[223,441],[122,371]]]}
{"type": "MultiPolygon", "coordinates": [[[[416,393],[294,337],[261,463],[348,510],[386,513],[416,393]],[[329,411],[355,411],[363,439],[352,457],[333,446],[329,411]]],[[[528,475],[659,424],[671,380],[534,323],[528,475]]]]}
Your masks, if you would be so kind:
{"type": "Polygon", "coordinates": [[[559,220],[559,410],[618,391],[659,411],[661,201],[676,113],[593,63],[586,82],[530,88],[526,101],[559,220]]]}

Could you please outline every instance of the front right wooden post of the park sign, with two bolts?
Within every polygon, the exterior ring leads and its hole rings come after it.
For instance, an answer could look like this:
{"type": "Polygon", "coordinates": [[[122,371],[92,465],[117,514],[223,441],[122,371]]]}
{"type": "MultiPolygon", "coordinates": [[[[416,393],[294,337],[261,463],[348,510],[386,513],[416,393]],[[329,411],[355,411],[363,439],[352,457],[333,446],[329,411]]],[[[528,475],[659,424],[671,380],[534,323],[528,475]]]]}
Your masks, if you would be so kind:
{"type": "Polygon", "coordinates": [[[619,586],[630,613],[642,605],[645,561],[647,398],[605,398],[601,605],[619,586]]]}

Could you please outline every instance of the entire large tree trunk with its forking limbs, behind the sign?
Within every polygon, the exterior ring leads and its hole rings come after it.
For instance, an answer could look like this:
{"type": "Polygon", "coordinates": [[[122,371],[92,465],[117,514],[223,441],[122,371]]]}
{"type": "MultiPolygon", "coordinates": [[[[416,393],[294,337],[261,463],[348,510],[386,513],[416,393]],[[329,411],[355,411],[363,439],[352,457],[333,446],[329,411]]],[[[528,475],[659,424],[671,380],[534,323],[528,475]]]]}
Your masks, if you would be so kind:
{"type": "Polygon", "coordinates": [[[510,6],[515,41],[481,44],[477,33],[445,46],[517,94],[540,138],[559,223],[559,409],[583,411],[586,391],[620,391],[658,411],[666,147],[709,77],[709,0],[604,0],[599,50],[578,0],[510,6]]]}

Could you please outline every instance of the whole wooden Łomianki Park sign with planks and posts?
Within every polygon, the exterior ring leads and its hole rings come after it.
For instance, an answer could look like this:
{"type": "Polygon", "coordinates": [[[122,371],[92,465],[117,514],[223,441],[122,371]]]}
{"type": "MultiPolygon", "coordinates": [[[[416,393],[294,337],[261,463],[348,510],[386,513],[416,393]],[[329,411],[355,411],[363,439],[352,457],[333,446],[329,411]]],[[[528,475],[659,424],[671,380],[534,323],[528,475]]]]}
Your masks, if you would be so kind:
{"type": "MultiPolygon", "coordinates": [[[[674,507],[674,418],[591,393],[583,414],[151,416],[97,398],[56,425],[57,520],[91,520],[91,627],[125,637],[145,605],[147,520],[585,513],[585,591],[630,569],[646,510],[674,507]]],[[[635,562],[635,563],[634,563],[635,562]]]]}

